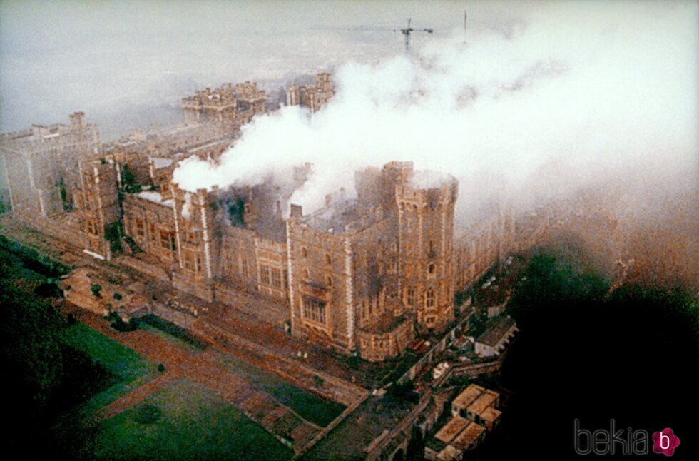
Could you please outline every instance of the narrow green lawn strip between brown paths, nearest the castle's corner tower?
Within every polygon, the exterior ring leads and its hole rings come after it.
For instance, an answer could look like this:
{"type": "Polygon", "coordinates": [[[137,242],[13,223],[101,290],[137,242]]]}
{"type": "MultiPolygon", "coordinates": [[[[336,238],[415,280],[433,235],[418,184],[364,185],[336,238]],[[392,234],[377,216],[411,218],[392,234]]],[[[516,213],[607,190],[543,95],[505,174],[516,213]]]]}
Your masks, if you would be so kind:
{"type": "Polygon", "coordinates": [[[233,355],[220,353],[215,362],[221,368],[252,381],[255,385],[269,392],[280,403],[297,412],[300,417],[314,422],[320,427],[329,425],[345,410],[345,406],[337,402],[307,392],[279,376],[239,360],[233,355]]]}

